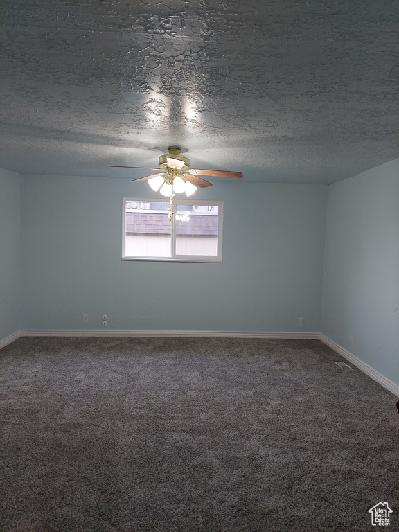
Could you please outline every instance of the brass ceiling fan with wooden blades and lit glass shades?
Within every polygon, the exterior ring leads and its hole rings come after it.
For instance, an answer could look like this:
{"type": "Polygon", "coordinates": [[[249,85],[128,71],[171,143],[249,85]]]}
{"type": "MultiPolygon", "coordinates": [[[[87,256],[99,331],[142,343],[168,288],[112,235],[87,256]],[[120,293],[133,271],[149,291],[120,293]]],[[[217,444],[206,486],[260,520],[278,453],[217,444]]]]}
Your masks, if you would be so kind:
{"type": "MultiPolygon", "coordinates": [[[[242,178],[241,172],[229,172],[224,170],[200,170],[189,168],[190,159],[180,155],[181,148],[177,146],[170,146],[168,148],[168,155],[161,155],[159,157],[160,168],[145,168],[147,170],[160,170],[156,174],[139,177],[139,179],[132,179],[132,181],[148,181],[148,184],[155,192],[159,192],[163,196],[168,196],[169,199],[169,220],[172,219],[172,198],[175,194],[186,193],[190,196],[195,193],[197,187],[204,188],[212,186],[212,183],[205,181],[198,175],[209,175],[215,177],[236,177],[242,178]]],[[[114,166],[105,164],[104,166],[112,168],[143,168],[143,166],[114,166]]]]}

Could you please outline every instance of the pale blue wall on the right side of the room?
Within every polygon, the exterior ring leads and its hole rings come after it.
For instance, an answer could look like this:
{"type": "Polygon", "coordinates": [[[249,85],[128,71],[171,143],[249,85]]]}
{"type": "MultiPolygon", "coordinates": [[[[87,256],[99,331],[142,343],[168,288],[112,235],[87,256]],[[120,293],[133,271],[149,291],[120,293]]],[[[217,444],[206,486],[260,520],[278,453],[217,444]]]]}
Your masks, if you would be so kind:
{"type": "Polygon", "coordinates": [[[329,187],[321,332],[399,383],[398,305],[396,159],[329,187]]]}

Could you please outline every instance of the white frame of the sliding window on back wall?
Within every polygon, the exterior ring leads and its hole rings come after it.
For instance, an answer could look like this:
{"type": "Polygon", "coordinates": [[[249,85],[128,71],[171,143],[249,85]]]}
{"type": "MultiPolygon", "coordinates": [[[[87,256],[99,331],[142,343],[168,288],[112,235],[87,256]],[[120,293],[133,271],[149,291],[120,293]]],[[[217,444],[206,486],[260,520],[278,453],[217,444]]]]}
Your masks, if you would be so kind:
{"type": "Polygon", "coordinates": [[[171,250],[170,257],[139,257],[130,256],[125,254],[125,242],[126,242],[126,202],[168,202],[167,198],[161,199],[142,199],[136,197],[124,197],[123,209],[122,209],[122,260],[150,260],[155,262],[179,262],[179,263],[221,263],[222,262],[222,240],[223,240],[223,202],[219,200],[203,200],[203,199],[177,199],[173,198],[172,201],[172,222],[171,229],[171,250]],[[202,205],[202,206],[218,206],[218,254],[217,255],[177,255],[176,250],[176,206],[177,205],[202,205]]]}

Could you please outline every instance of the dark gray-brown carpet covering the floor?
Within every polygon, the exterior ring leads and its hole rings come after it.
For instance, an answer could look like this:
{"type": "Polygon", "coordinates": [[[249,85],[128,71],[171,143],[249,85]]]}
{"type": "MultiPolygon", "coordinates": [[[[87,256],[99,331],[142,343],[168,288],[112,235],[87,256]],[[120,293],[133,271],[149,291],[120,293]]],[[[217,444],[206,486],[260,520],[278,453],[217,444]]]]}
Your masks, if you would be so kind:
{"type": "Polygon", "coordinates": [[[398,530],[396,398],[335,360],[311,340],[17,340],[1,532],[364,532],[378,502],[398,530]]]}

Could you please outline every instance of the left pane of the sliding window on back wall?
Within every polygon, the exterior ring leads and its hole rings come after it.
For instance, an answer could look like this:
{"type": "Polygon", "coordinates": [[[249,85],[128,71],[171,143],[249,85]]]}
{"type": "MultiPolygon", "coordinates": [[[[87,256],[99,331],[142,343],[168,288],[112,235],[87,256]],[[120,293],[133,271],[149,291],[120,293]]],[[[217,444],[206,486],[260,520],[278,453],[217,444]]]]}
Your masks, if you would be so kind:
{"type": "Polygon", "coordinates": [[[125,203],[125,256],[171,256],[172,224],[168,209],[168,202],[125,203]]]}

